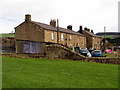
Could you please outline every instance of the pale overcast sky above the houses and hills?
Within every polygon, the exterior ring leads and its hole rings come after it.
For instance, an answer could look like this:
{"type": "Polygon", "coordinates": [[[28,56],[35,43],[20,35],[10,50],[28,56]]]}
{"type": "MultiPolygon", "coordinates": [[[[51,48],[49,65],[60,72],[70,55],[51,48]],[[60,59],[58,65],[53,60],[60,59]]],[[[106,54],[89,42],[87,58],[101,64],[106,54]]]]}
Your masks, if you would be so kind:
{"type": "Polygon", "coordinates": [[[14,27],[31,14],[33,21],[49,24],[59,19],[59,26],[79,26],[92,29],[94,33],[118,32],[118,2],[120,0],[1,0],[0,33],[14,32],[14,27]]]}

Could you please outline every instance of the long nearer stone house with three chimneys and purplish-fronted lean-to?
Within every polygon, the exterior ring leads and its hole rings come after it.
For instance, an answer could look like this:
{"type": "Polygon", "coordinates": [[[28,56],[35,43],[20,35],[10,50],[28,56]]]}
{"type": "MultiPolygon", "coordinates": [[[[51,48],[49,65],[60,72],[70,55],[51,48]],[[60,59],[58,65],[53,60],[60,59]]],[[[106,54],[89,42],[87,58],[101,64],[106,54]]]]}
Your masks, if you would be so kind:
{"type": "Polygon", "coordinates": [[[61,44],[68,47],[86,48],[86,37],[72,30],[56,26],[51,20],[50,25],[31,20],[25,15],[25,21],[15,27],[16,53],[46,53],[46,44],[61,44]]]}

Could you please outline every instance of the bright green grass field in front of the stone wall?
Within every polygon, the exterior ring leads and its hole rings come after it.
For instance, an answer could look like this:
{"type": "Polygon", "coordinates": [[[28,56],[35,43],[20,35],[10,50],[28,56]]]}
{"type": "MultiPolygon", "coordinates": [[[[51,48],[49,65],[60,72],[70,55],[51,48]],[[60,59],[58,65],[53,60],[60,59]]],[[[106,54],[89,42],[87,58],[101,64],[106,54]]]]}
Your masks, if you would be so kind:
{"type": "Polygon", "coordinates": [[[3,88],[118,88],[118,65],[3,57],[3,88]]]}

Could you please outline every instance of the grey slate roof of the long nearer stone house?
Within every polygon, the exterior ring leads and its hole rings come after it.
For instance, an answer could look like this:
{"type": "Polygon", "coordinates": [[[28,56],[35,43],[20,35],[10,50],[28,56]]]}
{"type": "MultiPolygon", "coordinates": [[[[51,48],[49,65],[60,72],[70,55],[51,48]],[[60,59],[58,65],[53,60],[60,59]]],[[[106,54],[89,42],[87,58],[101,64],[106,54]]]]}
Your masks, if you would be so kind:
{"type": "MultiPolygon", "coordinates": [[[[51,25],[48,25],[48,24],[44,24],[44,23],[40,23],[40,22],[35,22],[35,21],[31,21],[32,23],[44,28],[44,29],[47,29],[47,30],[51,30],[51,31],[56,31],[57,32],[57,27],[53,27],[51,25]]],[[[61,28],[59,27],[59,32],[64,32],[64,33],[69,33],[69,34],[75,34],[75,35],[82,35],[78,32],[75,32],[73,30],[70,30],[70,29],[66,29],[66,28],[61,28]]],[[[83,35],[82,35],[83,36],[83,35]]]]}

